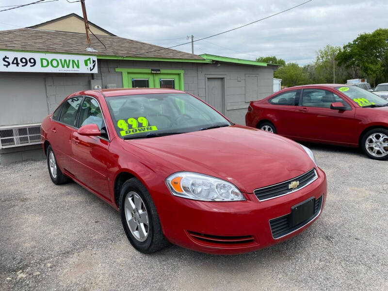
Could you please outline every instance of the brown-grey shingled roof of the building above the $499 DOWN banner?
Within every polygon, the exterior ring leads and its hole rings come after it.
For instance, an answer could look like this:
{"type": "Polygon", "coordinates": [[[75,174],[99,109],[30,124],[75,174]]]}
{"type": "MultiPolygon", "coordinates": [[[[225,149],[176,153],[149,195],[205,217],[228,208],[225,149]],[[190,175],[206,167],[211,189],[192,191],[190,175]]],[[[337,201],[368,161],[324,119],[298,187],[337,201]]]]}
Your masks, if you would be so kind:
{"type": "Polygon", "coordinates": [[[191,53],[175,49],[164,49],[118,36],[98,35],[97,37],[106,46],[106,49],[93,34],[90,34],[92,47],[97,51],[89,52],[86,51],[87,42],[84,33],[21,28],[0,31],[0,49],[204,60],[202,57],[191,53]],[[139,54],[142,52],[148,53],[139,54]]]}

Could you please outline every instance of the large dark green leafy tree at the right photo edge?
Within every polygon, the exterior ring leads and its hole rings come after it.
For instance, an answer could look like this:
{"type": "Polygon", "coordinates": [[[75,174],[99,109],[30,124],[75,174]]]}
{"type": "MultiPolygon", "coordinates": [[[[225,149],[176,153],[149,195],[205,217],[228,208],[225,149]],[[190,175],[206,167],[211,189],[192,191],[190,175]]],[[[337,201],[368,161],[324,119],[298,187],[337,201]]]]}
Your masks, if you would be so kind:
{"type": "Polygon", "coordinates": [[[361,33],[343,46],[336,57],[353,78],[363,78],[363,72],[374,83],[388,78],[388,29],[379,28],[372,33],[361,33]]]}

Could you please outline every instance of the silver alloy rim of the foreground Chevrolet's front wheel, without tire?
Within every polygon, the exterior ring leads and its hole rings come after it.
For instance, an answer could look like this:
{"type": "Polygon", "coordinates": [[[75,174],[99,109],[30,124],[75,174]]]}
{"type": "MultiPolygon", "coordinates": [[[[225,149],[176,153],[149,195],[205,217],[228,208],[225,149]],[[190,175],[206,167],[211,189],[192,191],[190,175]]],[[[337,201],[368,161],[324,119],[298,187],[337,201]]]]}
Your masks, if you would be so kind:
{"type": "Polygon", "coordinates": [[[129,192],[124,202],[127,225],[133,237],[144,242],[148,237],[149,222],[146,205],[139,194],[129,192]]]}

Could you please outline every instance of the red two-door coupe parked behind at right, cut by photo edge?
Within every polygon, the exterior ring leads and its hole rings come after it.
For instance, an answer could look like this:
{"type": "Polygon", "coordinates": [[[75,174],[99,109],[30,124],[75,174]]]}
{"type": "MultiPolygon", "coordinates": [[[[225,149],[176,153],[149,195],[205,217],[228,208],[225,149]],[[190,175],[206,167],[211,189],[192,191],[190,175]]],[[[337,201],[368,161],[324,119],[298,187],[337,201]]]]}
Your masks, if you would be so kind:
{"type": "Polygon", "coordinates": [[[359,146],[372,159],[388,159],[388,102],[356,86],[283,89],[252,101],[245,123],[297,141],[359,146]]]}

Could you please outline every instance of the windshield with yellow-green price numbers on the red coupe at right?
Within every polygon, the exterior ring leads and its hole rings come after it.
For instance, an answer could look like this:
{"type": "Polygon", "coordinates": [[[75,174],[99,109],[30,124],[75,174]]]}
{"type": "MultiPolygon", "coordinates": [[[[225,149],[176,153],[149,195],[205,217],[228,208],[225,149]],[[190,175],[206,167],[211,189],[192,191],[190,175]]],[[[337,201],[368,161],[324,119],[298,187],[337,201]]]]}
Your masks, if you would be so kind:
{"type": "Polygon", "coordinates": [[[336,89],[351,98],[360,107],[386,106],[388,104],[383,98],[356,86],[336,87],[336,89]]]}

